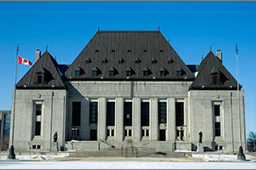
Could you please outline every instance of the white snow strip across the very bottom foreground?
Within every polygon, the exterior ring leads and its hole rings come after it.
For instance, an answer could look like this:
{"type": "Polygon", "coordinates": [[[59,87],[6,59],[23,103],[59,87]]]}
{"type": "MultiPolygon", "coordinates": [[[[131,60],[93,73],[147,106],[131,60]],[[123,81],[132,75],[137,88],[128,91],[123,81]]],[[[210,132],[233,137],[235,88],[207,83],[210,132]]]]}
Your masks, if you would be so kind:
{"type": "Polygon", "coordinates": [[[0,161],[0,169],[256,169],[255,162],[0,161]]]}

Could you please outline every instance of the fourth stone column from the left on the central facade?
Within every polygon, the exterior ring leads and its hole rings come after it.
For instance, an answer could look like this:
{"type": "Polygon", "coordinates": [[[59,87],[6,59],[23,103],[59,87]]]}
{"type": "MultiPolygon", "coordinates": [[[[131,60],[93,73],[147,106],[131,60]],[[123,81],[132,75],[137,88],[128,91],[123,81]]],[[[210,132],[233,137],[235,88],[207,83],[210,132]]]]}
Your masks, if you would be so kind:
{"type": "Polygon", "coordinates": [[[132,139],[141,140],[141,99],[132,99],[132,139]]]}

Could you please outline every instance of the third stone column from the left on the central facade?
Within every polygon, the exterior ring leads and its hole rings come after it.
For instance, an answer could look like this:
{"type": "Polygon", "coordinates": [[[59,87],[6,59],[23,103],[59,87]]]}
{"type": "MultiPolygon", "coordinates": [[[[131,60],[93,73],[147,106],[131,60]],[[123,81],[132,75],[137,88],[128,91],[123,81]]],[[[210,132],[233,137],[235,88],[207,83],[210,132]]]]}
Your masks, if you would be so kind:
{"type": "Polygon", "coordinates": [[[115,139],[123,141],[124,139],[124,100],[115,99],[115,139]]]}

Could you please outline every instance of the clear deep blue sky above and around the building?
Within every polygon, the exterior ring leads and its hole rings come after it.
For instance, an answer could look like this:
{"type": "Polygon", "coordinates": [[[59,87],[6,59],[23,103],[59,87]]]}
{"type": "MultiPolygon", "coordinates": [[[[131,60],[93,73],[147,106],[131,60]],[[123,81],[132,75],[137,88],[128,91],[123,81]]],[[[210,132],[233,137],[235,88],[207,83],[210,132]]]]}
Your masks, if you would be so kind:
{"type": "MultiPolygon", "coordinates": [[[[35,50],[71,64],[101,30],[157,30],[186,64],[200,64],[210,45],[245,90],[247,132],[256,132],[256,2],[0,2],[0,110],[10,110],[15,49],[34,62],[35,50]]],[[[18,66],[18,81],[30,66],[18,66]]]]}

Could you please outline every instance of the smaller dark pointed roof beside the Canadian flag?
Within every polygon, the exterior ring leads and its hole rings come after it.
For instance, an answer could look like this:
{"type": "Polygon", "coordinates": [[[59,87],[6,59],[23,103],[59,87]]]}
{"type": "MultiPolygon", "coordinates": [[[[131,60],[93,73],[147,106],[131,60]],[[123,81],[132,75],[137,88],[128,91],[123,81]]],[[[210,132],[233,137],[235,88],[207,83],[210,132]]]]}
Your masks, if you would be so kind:
{"type": "Polygon", "coordinates": [[[66,88],[64,82],[61,80],[61,71],[58,70],[56,60],[45,51],[42,57],[32,65],[32,68],[26,72],[26,75],[21,78],[20,82],[16,84],[16,88],[66,88]],[[38,83],[38,74],[44,74],[44,82],[38,83]]]}

